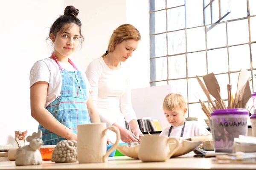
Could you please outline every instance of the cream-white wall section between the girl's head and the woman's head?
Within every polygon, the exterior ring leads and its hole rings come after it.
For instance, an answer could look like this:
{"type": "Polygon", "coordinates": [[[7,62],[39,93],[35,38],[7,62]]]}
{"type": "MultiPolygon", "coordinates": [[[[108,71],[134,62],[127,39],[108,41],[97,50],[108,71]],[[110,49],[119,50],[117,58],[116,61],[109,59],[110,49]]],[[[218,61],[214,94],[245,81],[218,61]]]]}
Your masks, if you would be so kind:
{"type": "Polygon", "coordinates": [[[68,5],[79,9],[85,37],[83,47],[71,59],[85,71],[93,59],[105,53],[113,30],[126,23],[126,0],[64,0],[64,6],[68,5]]]}

